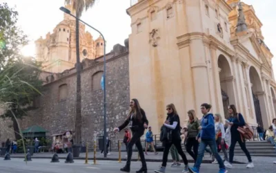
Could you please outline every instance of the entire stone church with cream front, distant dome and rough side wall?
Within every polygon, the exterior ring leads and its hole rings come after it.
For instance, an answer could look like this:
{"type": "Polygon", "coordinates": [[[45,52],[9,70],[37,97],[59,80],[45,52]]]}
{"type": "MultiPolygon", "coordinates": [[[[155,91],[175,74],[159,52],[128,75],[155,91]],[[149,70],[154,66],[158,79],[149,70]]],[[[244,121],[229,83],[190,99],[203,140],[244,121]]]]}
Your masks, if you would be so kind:
{"type": "MultiPolygon", "coordinates": [[[[201,118],[204,102],[226,118],[228,104],[235,104],[248,124],[268,128],[272,123],[276,117],[273,55],[253,6],[239,0],[139,0],[132,1],[127,13],[132,33],[125,46],[117,44],[107,55],[111,138],[124,135],[115,135],[112,129],[125,120],[130,98],[139,100],[154,134],[159,134],[170,103],[177,107],[181,125],[188,120],[189,109],[201,118]]],[[[43,95],[34,102],[37,108],[21,120],[23,129],[40,125],[58,134],[75,128],[74,21],[66,16],[64,20],[69,21],[62,21],[48,39],[36,42],[37,58],[45,61],[48,72],[43,73],[43,95]],[[66,36],[59,42],[57,35],[66,36]]],[[[103,134],[103,57],[97,53],[97,41],[84,33],[84,26],[81,30],[80,52],[87,50],[86,56],[81,55],[82,137],[92,142],[103,134]]]]}

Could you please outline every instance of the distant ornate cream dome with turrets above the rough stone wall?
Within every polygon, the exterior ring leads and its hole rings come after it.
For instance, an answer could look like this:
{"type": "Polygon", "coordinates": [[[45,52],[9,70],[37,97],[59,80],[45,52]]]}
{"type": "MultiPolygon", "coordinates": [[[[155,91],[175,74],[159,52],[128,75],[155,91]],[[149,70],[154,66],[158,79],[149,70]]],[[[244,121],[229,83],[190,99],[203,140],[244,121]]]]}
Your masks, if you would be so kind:
{"type": "MultiPolygon", "coordinates": [[[[71,6],[66,6],[74,13],[71,6]]],[[[43,71],[61,73],[72,69],[76,63],[76,20],[64,14],[64,19],[46,38],[40,37],[35,41],[36,58],[42,62],[43,71]]],[[[103,38],[93,39],[86,31],[85,25],[79,22],[79,51],[80,60],[94,60],[103,55],[103,38]]]]}

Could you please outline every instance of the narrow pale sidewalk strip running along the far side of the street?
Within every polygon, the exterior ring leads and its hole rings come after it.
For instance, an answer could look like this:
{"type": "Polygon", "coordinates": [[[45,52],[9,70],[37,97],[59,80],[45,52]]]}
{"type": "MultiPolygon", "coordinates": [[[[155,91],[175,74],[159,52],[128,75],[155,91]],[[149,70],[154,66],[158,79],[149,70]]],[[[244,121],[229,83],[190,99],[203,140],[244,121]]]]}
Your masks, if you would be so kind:
{"type": "MultiPolygon", "coordinates": [[[[221,153],[222,154],[222,153],[221,153]]],[[[39,153],[34,154],[32,158],[48,158],[52,159],[52,152],[50,153],[39,153]]],[[[60,159],[65,159],[67,154],[58,154],[60,159]]],[[[159,152],[157,155],[155,155],[153,152],[148,152],[148,155],[145,155],[147,162],[161,162],[162,161],[163,152],[159,152]]],[[[190,157],[190,155],[186,154],[189,163],[194,163],[193,158],[190,157]]],[[[3,156],[1,156],[3,158],[3,156]]],[[[24,158],[24,154],[11,154],[11,158],[24,158]]],[[[81,153],[79,155],[79,158],[74,158],[75,160],[84,160],[86,158],[86,153],[81,153]]],[[[110,155],[107,156],[107,158],[104,158],[103,155],[101,155],[99,152],[96,154],[96,159],[99,161],[118,161],[119,153],[118,152],[110,152],[110,155]]],[[[181,157],[180,157],[181,158],[181,157]]],[[[221,155],[221,158],[223,158],[223,155],[221,155]]],[[[94,153],[89,152],[88,153],[88,160],[94,159],[94,153]]],[[[132,153],[132,161],[137,161],[138,159],[138,152],[132,153]]],[[[126,161],[126,152],[121,152],[121,161],[126,161]]],[[[168,155],[168,162],[172,162],[172,158],[170,154],[168,155]]],[[[204,160],[202,163],[211,163],[212,159],[209,154],[205,154],[204,160]]],[[[235,156],[234,162],[237,164],[244,164],[247,163],[247,159],[245,156],[235,156]]]]}

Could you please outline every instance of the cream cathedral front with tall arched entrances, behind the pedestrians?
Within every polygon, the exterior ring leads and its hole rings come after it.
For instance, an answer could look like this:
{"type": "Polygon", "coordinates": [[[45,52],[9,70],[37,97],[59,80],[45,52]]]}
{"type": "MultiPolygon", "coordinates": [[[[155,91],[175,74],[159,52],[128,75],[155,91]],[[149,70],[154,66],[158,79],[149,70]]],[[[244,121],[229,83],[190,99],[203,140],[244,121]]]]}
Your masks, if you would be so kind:
{"type": "Polygon", "coordinates": [[[213,105],[228,118],[235,104],[246,122],[268,128],[275,118],[273,55],[253,6],[239,0],[139,0],[127,10],[130,98],[146,110],[153,131],[174,103],[187,111],[213,105]]]}

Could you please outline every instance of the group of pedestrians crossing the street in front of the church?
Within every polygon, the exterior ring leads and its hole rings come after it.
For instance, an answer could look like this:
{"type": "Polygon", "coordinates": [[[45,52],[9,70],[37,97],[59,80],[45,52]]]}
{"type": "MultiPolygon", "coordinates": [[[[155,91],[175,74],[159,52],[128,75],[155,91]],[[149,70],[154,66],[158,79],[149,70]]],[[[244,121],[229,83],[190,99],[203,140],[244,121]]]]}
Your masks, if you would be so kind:
{"type": "MultiPolygon", "coordinates": [[[[210,147],[210,152],[212,153],[214,163],[219,163],[219,173],[228,172],[226,170],[226,167],[233,167],[232,163],[236,143],[239,143],[240,147],[248,158],[248,165],[246,165],[246,167],[254,167],[250,154],[246,149],[245,140],[237,130],[238,127],[243,127],[244,125],[246,125],[246,122],[244,121],[242,114],[237,112],[235,105],[231,104],[228,107],[230,118],[226,120],[225,123],[223,122],[219,113],[215,113],[214,116],[213,113],[210,112],[210,104],[201,104],[200,109],[201,113],[203,114],[201,120],[198,120],[195,110],[190,110],[188,111],[189,120],[187,128],[185,128],[186,130],[184,131],[182,129],[182,133],[186,133],[186,150],[195,161],[193,167],[189,167],[188,160],[181,147],[181,127],[177,109],[175,108],[174,104],[168,104],[166,106],[167,117],[164,125],[161,127],[160,134],[160,140],[162,142],[162,145],[164,146],[164,153],[161,167],[159,167],[158,170],[155,170],[155,172],[164,173],[166,171],[169,152],[171,151],[171,153],[175,153],[174,151],[177,151],[184,162],[183,172],[198,173],[207,146],[210,147]],[[226,124],[226,126],[228,127],[226,131],[224,128],[224,124],[226,124]],[[226,135],[229,136],[227,141],[225,140],[226,135]],[[229,145],[230,149],[228,158],[227,148],[229,145]],[[219,156],[218,149],[224,152],[224,161],[219,156]]],[[[148,119],[146,118],[145,111],[141,109],[137,99],[130,100],[130,110],[126,120],[121,126],[115,128],[114,131],[121,131],[127,126],[132,131],[132,137],[130,137],[130,134],[128,134],[129,131],[126,130],[126,139],[124,138],[124,142],[126,142],[128,158],[126,161],[126,165],[121,168],[121,171],[130,172],[132,147],[135,144],[137,146],[142,163],[142,167],[140,170],[137,171],[137,173],[147,172],[146,160],[140,138],[144,135],[145,129],[148,128],[148,119]]],[[[152,137],[152,133],[150,133],[151,129],[149,129],[148,132],[149,133],[147,133],[146,136],[152,137]]],[[[151,140],[147,141],[147,143],[150,145],[153,145],[152,142],[153,141],[151,140]]],[[[147,148],[148,145],[145,149],[146,154],[147,148]]],[[[152,146],[152,149],[154,149],[154,146],[152,146]]],[[[178,154],[176,155],[178,156],[178,154]]],[[[175,163],[173,163],[173,165],[180,164],[177,162],[177,158],[172,158],[175,160],[175,163]]]]}

